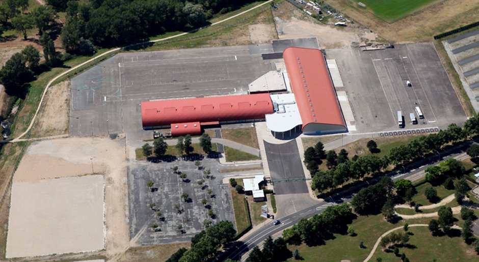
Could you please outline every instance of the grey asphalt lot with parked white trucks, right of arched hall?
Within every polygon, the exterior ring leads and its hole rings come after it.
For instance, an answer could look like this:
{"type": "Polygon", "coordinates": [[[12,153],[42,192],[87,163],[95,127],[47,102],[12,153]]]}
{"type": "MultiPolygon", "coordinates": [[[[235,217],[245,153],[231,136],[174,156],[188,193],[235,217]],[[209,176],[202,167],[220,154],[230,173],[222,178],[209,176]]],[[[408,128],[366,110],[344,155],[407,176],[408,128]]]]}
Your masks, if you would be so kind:
{"type": "MultiPolygon", "coordinates": [[[[375,51],[328,49],[335,59],[352,106],[357,132],[398,130],[401,110],[405,129],[446,128],[462,124],[466,114],[431,43],[395,45],[375,51]],[[411,87],[406,81],[412,83],[411,87]],[[409,121],[419,106],[424,119],[409,121]]],[[[417,117],[417,115],[416,115],[417,117]]]]}

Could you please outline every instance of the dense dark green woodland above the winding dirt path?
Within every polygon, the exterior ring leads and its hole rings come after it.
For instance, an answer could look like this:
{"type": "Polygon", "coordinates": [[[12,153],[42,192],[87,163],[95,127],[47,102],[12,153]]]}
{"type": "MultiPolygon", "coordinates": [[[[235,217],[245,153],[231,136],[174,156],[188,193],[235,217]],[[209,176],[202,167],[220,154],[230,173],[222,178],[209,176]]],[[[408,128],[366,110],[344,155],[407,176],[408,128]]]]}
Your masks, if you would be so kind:
{"type": "MultiPolygon", "coordinates": [[[[57,0],[58,1],[58,0],[57,0]]],[[[205,25],[252,0],[90,0],[69,1],[63,46],[69,53],[88,53],[101,47],[131,44],[149,36],[190,30],[205,25]]],[[[63,7],[64,2],[57,7],[63,7]]]]}

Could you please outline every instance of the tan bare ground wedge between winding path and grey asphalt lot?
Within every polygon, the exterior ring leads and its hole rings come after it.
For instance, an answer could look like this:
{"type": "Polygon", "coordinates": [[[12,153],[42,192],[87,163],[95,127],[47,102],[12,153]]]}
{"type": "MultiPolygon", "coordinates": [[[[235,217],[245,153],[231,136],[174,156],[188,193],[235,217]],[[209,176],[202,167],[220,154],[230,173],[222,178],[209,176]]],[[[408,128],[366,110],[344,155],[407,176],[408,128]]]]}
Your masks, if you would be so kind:
{"type": "Polygon", "coordinates": [[[51,86],[43,100],[32,129],[32,137],[68,134],[70,81],[51,86]]]}

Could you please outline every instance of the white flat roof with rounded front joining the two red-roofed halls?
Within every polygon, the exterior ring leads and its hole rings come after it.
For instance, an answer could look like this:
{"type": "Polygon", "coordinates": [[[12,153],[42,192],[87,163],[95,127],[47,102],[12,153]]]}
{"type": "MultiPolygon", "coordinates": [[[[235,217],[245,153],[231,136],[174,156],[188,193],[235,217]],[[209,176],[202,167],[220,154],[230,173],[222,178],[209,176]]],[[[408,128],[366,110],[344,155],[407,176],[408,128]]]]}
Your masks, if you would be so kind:
{"type": "Polygon", "coordinates": [[[271,95],[275,112],[267,114],[266,126],[274,132],[286,132],[302,125],[294,94],[271,95]]]}

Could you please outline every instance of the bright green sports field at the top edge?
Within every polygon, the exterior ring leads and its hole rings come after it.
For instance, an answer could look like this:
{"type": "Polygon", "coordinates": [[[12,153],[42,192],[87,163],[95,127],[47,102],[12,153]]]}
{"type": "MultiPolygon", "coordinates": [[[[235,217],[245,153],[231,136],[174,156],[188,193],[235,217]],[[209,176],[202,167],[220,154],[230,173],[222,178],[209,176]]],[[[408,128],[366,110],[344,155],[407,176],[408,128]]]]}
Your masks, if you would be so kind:
{"type": "Polygon", "coordinates": [[[393,22],[437,0],[357,0],[378,17],[393,22]]]}

